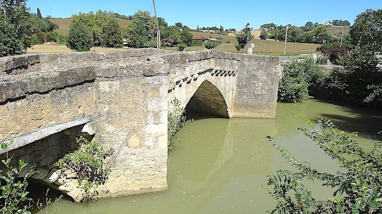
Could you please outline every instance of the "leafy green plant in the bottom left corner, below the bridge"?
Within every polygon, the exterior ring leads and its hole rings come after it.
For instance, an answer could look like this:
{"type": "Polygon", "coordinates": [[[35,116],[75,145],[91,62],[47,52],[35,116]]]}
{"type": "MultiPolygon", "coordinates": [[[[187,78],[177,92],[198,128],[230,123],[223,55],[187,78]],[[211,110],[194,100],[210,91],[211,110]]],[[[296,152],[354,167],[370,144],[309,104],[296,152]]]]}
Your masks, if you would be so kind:
{"type": "MultiPolygon", "coordinates": [[[[12,142],[2,143],[1,148],[6,150],[12,142]]],[[[5,170],[0,170],[1,189],[0,189],[0,212],[1,213],[31,213],[32,199],[28,197],[29,192],[27,179],[38,171],[35,167],[27,168],[28,164],[22,159],[19,159],[16,167],[11,165],[13,156],[5,153],[5,159],[2,163],[5,165],[5,170]],[[24,175],[22,175],[26,172],[24,175]]]]}

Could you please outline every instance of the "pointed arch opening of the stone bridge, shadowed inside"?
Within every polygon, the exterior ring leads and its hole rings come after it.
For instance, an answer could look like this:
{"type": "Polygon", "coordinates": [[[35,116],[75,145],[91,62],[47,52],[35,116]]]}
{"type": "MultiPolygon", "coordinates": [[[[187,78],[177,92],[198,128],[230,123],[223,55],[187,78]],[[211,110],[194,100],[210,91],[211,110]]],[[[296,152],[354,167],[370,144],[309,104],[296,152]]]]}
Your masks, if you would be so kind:
{"type": "Polygon", "coordinates": [[[189,99],[187,118],[229,118],[227,102],[222,93],[209,81],[204,81],[189,99]]]}

